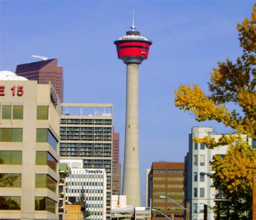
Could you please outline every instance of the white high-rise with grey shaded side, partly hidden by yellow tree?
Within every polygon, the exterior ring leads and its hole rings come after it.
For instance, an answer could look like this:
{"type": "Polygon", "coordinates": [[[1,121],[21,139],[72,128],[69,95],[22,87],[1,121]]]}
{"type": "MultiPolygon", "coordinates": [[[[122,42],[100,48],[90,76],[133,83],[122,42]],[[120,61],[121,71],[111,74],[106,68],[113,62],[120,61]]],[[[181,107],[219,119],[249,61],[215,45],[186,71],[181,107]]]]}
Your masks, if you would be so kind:
{"type": "MultiPolygon", "coordinates": [[[[210,161],[214,155],[224,156],[229,146],[221,146],[214,149],[208,149],[204,143],[195,143],[194,138],[214,138],[218,141],[223,134],[215,134],[211,127],[193,127],[188,136],[188,153],[185,157],[184,172],[184,192],[185,203],[190,203],[190,220],[200,220],[204,218],[204,204],[208,207],[214,207],[215,204],[223,202],[225,195],[222,191],[211,187],[212,179],[207,175],[200,173],[213,173],[210,161]]],[[[252,144],[251,138],[242,135],[242,140],[252,144]]],[[[215,219],[217,214],[212,209],[208,209],[207,219],[215,219]]],[[[224,217],[224,216],[223,216],[224,217]]],[[[221,218],[221,216],[220,216],[221,218]]]]}

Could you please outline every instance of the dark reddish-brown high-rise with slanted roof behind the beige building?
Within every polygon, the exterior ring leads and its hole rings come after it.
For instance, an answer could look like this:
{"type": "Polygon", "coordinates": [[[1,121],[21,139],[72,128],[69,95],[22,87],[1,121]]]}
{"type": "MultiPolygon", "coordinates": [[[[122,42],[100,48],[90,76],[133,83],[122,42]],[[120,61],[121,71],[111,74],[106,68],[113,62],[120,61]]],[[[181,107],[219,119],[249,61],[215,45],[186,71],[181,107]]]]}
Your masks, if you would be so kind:
{"type": "Polygon", "coordinates": [[[19,64],[15,72],[28,80],[37,80],[38,84],[48,84],[51,81],[60,101],[63,102],[63,67],[58,65],[57,58],[19,64]]]}

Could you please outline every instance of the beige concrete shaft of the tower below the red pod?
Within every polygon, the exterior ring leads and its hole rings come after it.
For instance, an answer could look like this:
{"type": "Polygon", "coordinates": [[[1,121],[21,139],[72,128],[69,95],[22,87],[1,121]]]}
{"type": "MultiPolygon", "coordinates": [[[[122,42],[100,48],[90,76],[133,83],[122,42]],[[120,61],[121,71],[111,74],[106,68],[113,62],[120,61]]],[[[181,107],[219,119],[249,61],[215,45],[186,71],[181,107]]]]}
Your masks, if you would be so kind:
{"type": "Polygon", "coordinates": [[[127,196],[126,203],[128,205],[140,207],[138,138],[139,64],[127,64],[126,74],[126,122],[123,195],[127,196]]]}

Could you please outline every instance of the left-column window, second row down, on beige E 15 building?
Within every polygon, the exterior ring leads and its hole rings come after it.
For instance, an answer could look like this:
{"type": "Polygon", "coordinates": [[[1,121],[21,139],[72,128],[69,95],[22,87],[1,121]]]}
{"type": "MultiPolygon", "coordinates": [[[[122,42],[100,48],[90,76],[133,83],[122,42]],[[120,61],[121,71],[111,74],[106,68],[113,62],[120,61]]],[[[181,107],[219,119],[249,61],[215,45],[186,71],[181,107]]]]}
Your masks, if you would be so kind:
{"type": "Polygon", "coordinates": [[[0,128],[1,142],[22,142],[22,128],[0,128]]]}

